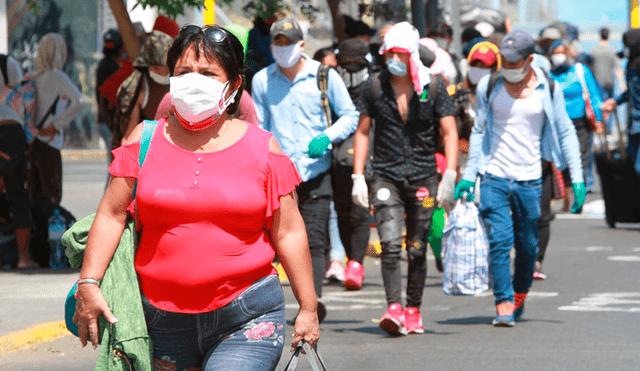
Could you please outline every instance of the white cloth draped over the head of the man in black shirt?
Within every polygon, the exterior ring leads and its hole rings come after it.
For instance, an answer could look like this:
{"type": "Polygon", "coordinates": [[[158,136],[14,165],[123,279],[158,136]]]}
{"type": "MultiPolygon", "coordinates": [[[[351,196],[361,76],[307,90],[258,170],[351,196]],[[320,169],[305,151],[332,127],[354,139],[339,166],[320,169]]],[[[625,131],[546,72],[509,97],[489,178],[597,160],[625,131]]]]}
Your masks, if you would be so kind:
{"type": "Polygon", "coordinates": [[[416,92],[422,94],[423,88],[431,81],[431,70],[420,61],[419,40],[418,30],[409,22],[396,23],[384,35],[382,46],[378,52],[382,55],[391,49],[404,49],[411,54],[411,58],[409,58],[411,82],[416,92]]]}

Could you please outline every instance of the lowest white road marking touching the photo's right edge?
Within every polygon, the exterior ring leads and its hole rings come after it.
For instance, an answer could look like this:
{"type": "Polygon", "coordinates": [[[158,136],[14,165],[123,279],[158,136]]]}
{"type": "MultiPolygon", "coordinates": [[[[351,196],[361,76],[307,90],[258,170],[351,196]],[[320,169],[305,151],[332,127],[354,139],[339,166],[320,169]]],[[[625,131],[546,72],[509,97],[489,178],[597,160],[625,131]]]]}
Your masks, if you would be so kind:
{"type": "Polygon", "coordinates": [[[574,312],[640,312],[640,292],[608,292],[591,294],[571,305],[558,308],[562,311],[574,312]],[[638,305],[638,306],[630,306],[638,305]]]}

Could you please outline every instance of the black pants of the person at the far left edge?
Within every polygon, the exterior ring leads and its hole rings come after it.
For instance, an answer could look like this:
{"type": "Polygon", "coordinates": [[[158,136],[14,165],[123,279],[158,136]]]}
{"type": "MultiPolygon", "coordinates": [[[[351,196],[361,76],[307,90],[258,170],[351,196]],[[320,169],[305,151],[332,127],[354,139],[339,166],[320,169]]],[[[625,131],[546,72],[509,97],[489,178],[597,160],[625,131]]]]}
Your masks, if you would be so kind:
{"type": "Polygon", "coordinates": [[[27,137],[20,124],[0,125],[0,177],[4,179],[11,224],[31,228],[31,201],[25,188],[27,179],[27,137]]]}

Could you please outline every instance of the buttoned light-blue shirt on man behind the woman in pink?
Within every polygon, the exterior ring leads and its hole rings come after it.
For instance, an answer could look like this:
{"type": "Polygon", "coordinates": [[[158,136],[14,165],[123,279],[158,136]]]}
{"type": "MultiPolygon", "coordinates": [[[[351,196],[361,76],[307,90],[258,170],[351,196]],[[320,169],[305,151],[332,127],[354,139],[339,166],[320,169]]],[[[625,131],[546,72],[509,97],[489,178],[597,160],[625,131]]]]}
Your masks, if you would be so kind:
{"type": "Polygon", "coordinates": [[[309,142],[322,133],[332,143],[346,139],[356,131],[360,114],[340,75],[330,69],[327,97],[338,120],[327,127],[317,80],[320,62],[305,54],[303,58],[306,58],[304,68],[293,81],[275,63],[258,71],[251,82],[251,97],[260,127],[273,133],[306,182],[331,167],[331,151],[320,158],[311,158],[307,154],[309,142]]]}

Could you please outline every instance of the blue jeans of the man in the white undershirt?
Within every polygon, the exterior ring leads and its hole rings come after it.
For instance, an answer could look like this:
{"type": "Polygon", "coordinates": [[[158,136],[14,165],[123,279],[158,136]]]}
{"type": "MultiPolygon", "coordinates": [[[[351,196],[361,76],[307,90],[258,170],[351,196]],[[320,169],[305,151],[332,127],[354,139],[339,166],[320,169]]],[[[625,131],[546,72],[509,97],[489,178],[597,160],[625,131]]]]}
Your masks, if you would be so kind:
{"type": "Polygon", "coordinates": [[[515,181],[486,174],[480,186],[480,216],[487,224],[496,304],[529,291],[538,253],[542,179],[515,181]],[[511,248],[516,248],[511,282],[511,248]]]}

